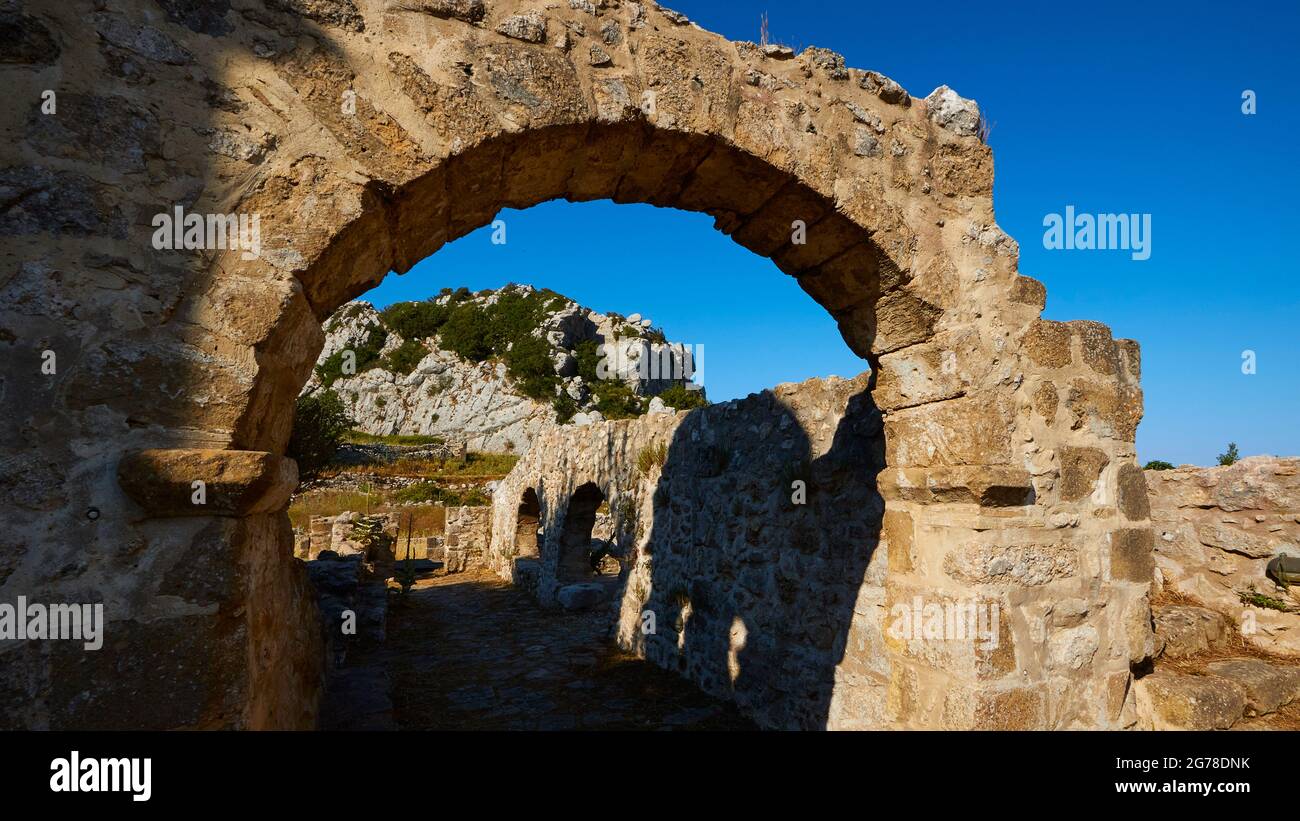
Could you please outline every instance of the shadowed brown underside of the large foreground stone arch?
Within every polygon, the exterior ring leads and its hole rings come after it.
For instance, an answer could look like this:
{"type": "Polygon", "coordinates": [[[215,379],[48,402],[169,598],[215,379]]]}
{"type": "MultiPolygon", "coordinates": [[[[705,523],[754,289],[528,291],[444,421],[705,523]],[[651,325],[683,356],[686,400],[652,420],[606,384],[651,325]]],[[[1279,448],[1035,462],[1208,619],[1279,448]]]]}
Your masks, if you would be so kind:
{"type": "MultiPolygon", "coordinates": [[[[302,288],[306,305],[282,305],[269,338],[311,335],[303,327],[311,322],[304,308],[322,321],[389,270],[408,270],[446,242],[489,225],[500,209],[554,199],[708,213],[724,235],[794,277],[835,317],[850,349],[871,362],[880,351],[927,340],[942,313],[930,295],[910,290],[913,260],[896,260],[878,244],[879,214],[845,216],[831,192],[725,136],[662,129],[636,117],[486,138],[400,187],[370,186],[360,214],[339,225],[325,252],[295,272],[291,287],[302,288]],[[377,259],[360,251],[376,244],[390,247],[377,259]]],[[[283,368],[259,370],[248,414],[233,431],[237,444],[282,451],[287,429],[266,422],[282,416],[278,408],[296,395],[296,377],[306,379],[315,362],[312,349],[296,346],[295,361],[281,353],[283,368]]]]}

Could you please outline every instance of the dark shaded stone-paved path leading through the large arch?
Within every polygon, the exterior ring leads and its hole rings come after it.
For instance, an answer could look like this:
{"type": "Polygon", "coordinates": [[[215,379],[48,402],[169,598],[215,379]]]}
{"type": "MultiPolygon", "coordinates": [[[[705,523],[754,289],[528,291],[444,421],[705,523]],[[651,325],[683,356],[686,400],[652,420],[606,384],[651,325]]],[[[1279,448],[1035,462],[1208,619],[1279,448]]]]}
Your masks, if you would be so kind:
{"type": "Polygon", "coordinates": [[[543,611],[490,573],[421,579],[406,601],[391,599],[387,640],[348,664],[368,670],[354,676],[364,686],[380,686],[386,673],[390,717],[358,720],[344,705],[328,711],[324,726],[754,729],[731,704],[619,651],[608,637],[608,614],[543,611]]]}

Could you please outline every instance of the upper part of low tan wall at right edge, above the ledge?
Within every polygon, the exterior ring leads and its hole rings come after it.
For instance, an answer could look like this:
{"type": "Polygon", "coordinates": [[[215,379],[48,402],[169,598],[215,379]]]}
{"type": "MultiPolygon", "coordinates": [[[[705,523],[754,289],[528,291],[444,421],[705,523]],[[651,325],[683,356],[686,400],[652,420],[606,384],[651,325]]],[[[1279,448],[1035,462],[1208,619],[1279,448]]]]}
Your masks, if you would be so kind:
{"type": "Polygon", "coordinates": [[[1253,630],[1243,630],[1251,644],[1300,656],[1300,595],[1265,574],[1274,556],[1300,556],[1300,459],[1252,456],[1145,477],[1164,586],[1234,622],[1252,621],[1253,630]],[[1252,588],[1296,612],[1249,607],[1240,594],[1252,588]]]}

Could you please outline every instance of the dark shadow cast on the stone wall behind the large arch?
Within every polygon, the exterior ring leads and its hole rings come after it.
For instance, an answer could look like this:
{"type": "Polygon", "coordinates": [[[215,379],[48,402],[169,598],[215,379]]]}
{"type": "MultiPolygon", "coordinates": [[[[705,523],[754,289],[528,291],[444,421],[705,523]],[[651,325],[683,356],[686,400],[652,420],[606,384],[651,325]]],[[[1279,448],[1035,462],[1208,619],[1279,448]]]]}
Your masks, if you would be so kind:
{"type": "MultiPolygon", "coordinates": [[[[846,652],[874,653],[866,665],[887,670],[879,643],[859,646],[854,633],[850,648],[855,624],[876,624],[875,613],[855,620],[863,586],[880,592],[862,596],[864,607],[883,600],[884,556],[872,562],[884,516],[880,410],[863,388],[831,430],[845,405],[811,399],[801,410],[763,391],[692,413],[673,434],[642,543],[642,613],[656,630],[632,640],[768,727],[826,727],[846,652]],[[793,501],[797,482],[805,504],[793,501]]],[[[629,585],[634,600],[634,574],[629,585]]]]}

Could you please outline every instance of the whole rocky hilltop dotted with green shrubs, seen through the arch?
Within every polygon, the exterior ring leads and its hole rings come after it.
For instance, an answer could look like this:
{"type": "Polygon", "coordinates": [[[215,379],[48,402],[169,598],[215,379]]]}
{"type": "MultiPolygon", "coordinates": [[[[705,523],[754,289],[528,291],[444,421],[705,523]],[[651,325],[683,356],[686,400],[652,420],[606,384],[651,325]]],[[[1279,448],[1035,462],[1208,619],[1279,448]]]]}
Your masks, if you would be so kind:
{"type": "Polygon", "coordinates": [[[446,288],[384,310],[352,301],[325,334],[303,390],[333,390],[355,427],[376,435],[526,449],[552,425],[703,403],[702,391],[685,388],[690,351],[650,320],[529,286],[446,288]]]}

